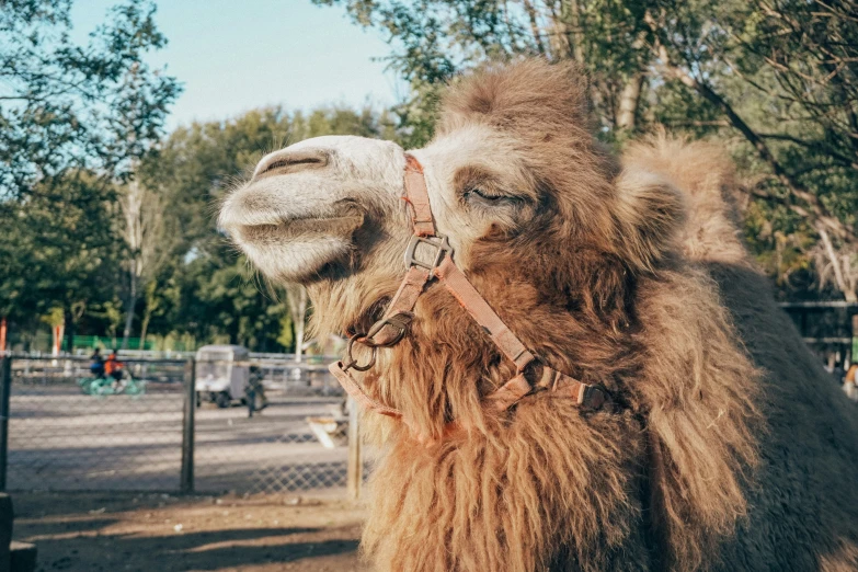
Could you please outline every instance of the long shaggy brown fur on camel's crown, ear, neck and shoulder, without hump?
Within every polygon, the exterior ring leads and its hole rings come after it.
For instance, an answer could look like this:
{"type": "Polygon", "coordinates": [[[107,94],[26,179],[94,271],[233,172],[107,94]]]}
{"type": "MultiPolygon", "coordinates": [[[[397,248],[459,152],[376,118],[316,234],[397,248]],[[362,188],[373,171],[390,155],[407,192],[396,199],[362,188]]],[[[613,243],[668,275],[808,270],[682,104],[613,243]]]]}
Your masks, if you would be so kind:
{"type": "Polygon", "coordinates": [[[480,122],[528,149],[542,218],[474,245],[469,275],[538,355],[605,385],[626,412],[537,396],[487,419],[480,398],[513,371],[431,291],[379,394],[437,438],[453,419],[472,433],[430,449],[392,439],[365,534],[380,569],[647,570],[652,547],[690,569],[745,513],[756,370],[716,285],[671,254],[680,197],[600,152],[575,78],[537,62],[467,80],[441,136],[480,122]]]}

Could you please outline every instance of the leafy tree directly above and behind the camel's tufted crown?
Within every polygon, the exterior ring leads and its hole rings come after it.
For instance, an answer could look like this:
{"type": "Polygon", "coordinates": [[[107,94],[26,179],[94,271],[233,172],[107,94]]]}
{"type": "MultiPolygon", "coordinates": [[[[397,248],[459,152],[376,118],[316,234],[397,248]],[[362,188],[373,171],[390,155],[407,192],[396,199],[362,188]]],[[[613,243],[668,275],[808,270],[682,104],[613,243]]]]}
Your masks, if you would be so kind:
{"type": "MultiPolygon", "coordinates": [[[[541,55],[574,60],[591,78],[591,100],[605,131],[636,129],[650,52],[647,2],[618,0],[312,0],[345,5],[363,26],[382,30],[394,46],[390,66],[416,98],[396,111],[431,136],[437,85],[487,60],[541,55]]],[[[422,139],[422,140],[420,140],[422,139]]]]}

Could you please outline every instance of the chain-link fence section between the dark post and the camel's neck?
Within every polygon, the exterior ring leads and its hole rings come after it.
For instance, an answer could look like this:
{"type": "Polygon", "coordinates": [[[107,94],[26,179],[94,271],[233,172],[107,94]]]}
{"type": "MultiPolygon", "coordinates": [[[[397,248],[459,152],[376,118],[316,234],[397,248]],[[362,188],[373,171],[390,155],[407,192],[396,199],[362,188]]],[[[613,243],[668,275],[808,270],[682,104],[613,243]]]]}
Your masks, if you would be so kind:
{"type": "Polygon", "coordinates": [[[213,369],[222,379],[227,367],[259,369],[251,375],[263,376],[264,398],[254,400],[264,409],[249,416],[249,408],[224,408],[222,392],[202,392],[195,422],[196,490],[342,491],[347,421],[342,390],[327,366],[276,358],[208,361],[197,365],[197,387],[205,387],[213,369]]]}

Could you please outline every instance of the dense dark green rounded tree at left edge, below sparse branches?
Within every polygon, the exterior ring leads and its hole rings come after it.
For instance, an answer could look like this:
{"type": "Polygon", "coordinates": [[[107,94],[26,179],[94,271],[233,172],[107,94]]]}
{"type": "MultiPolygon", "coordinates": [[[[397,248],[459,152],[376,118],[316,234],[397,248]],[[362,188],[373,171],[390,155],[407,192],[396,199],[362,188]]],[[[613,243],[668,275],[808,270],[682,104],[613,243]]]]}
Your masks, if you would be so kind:
{"type": "Polygon", "coordinates": [[[21,201],[0,202],[0,313],[33,324],[60,308],[71,348],[87,308],[116,295],[114,202],[113,188],[87,172],[47,179],[21,201]]]}

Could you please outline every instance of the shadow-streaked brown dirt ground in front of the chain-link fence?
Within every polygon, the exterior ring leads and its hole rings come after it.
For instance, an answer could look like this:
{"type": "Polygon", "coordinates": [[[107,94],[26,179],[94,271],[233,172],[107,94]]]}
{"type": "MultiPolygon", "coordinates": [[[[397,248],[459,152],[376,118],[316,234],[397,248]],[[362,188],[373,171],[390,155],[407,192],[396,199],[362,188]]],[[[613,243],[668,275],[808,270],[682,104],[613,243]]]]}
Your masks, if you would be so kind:
{"type": "Polygon", "coordinates": [[[39,571],[365,571],[363,510],[290,495],[13,493],[39,571]]]}

